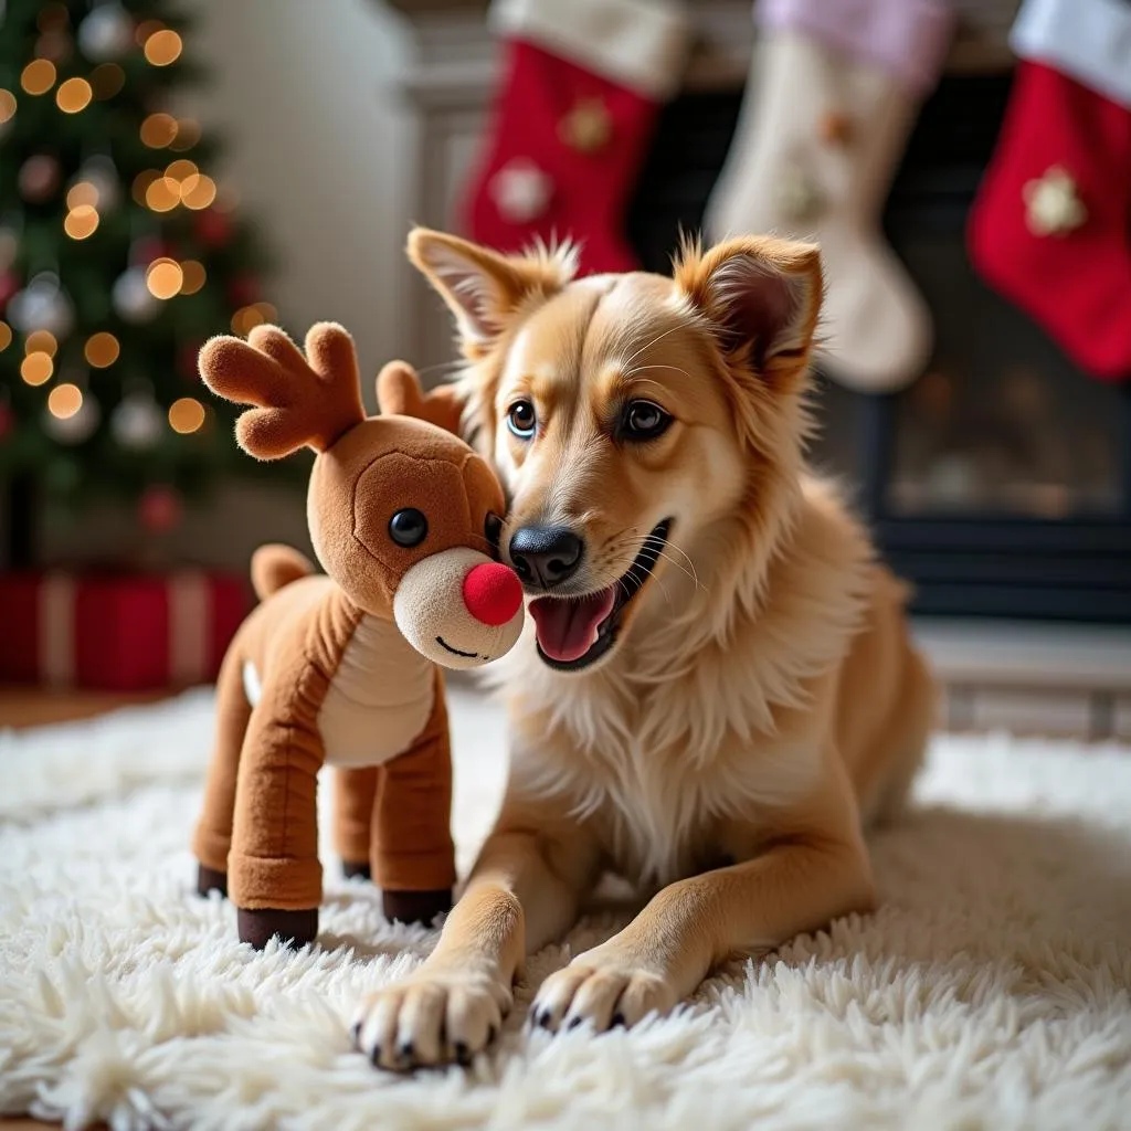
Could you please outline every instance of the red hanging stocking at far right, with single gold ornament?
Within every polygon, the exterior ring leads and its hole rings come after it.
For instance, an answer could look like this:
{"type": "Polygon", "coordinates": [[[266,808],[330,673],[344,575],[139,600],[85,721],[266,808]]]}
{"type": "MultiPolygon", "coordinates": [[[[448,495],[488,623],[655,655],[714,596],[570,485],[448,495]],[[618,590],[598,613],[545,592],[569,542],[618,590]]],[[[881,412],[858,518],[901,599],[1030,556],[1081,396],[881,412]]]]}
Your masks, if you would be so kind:
{"type": "Polygon", "coordinates": [[[1086,372],[1131,377],[1131,3],[1026,0],[974,265],[1086,372]]]}

